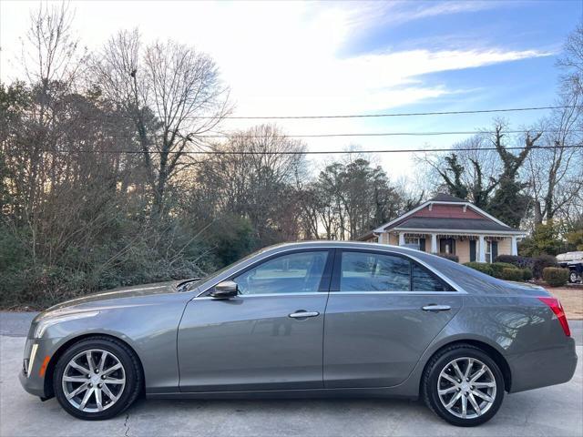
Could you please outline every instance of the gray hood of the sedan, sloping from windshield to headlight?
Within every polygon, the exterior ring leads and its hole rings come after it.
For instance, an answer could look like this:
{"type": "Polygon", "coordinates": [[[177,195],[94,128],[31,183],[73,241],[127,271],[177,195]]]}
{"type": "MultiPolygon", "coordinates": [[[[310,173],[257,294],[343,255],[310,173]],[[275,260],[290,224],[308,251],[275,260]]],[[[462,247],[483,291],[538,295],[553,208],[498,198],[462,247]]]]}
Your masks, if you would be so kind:
{"type": "Polygon", "coordinates": [[[154,284],[144,284],[144,285],[136,285],[132,287],[122,287],[114,290],[108,291],[101,291],[94,294],[89,294],[82,298],[66,300],[65,302],[57,303],[56,305],[50,307],[49,309],[45,310],[44,313],[48,312],[66,312],[67,309],[70,307],[97,307],[95,304],[101,301],[107,300],[107,306],[110,306],[112,303],[115,304],[115,300],[118,299],[126,299],[126,298],[135,298],[135,297],[143,297],[143,296],[150,296],[153,294],[168,294],[168,293],[176,293],[177,287],[176,285],[179,284],[180,281],[169,281],[169,282],[159,282],[154,284]],[[86,305],[90,304],[90,305],[86,305]]]}

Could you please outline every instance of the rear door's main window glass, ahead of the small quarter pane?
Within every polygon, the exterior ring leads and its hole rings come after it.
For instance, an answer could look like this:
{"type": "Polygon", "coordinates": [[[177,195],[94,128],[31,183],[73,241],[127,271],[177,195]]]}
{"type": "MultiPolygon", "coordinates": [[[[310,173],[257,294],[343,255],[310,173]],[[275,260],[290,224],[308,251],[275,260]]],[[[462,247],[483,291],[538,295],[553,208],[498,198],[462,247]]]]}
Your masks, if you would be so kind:
{"type": "Polygon", "coordinates": [[[344,251],[340,291],[409,291],[411,263],[392,255],[344,251]]]}

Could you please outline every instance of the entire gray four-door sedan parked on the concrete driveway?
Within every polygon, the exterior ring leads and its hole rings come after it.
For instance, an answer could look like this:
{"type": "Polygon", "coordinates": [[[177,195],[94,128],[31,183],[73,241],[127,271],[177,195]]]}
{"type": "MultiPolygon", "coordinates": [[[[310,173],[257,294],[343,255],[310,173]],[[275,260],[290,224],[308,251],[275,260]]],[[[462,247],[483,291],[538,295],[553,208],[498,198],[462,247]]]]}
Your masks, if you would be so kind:
{"type": "Polygon", "coordinates": [[[22,385],[80,419],[148,398],[421,398],[486,422],[507,393],[569,381],[577,355],[546,290],[413,249],[262,249],[204,279],[69,300],[33,320],[22,385]]]}

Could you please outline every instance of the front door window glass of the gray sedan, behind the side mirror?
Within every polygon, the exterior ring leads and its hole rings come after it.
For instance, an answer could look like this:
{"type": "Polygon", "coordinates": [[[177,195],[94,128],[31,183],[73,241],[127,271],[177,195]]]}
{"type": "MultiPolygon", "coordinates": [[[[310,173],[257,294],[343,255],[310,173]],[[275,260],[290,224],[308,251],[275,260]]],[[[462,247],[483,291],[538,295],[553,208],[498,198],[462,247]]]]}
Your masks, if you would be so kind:
{"type": "Polygon", "coordinates": [[[327,250],[282,255],[232,280],[241,295],[317,292],[327,259],[327,250]]]}

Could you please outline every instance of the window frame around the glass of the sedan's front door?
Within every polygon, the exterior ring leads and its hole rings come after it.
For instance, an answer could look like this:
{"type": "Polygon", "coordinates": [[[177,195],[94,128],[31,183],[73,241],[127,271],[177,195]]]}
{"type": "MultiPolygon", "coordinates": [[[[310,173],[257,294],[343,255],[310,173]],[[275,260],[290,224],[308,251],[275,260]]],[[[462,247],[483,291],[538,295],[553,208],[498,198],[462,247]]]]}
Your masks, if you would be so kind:
{"type": "Polygon", "coordinates": [[[328,293],[330,291],[330,284],[332,282],[332,267],[333,262],[335,259],[335,252],[337,249],[334,248],[303,248],[303,249],[290,249],[285,250],[277,253],[273,253],[270,256],[265,258],[257,259],[255,262],[250,264],[249,266],[243,267],[242,269],[236,270],[232,272],[228,277],[224,279],[220,279],[216,283],[212,284],[209,288],[199,293],[194,299],[212,299],[209,296],[210,290],[212,290],[218,283],[222,282],[223,280],[232,280],[235,277],[246,273],[251,269],[256,269],[257,267],[261,266],[261,264],[271,261],[271,259],[285,257],[287,255],[294,255],[296,253],[305,253],[305,252],[328,252],[328,257],[326,258],[326,264],[324,266],[324,270],[322,272],[322,279],[320,279],[320,285],[318,286],[318,291],[303,291],[298,293],[264,293],[264,294],[246,294],[246,295],[238,295],[238,298],[253,298],[253,297],[277,297],[277,296],[313,296],[319,295],[322,293],[328,293]]]}

